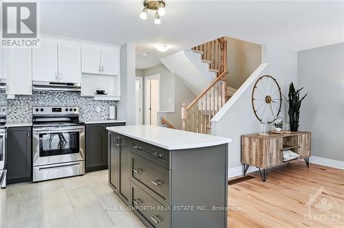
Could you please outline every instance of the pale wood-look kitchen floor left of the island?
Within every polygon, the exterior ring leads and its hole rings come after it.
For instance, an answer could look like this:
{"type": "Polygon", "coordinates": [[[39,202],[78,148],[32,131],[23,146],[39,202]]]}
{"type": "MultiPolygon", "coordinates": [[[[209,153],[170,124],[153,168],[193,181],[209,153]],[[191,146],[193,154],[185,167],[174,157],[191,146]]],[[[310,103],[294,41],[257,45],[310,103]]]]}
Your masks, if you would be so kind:
{"type": "Polygon", "coordinates": [[[107,170],[0,190],[0,227],[144,227],[107,185],[107,170]]]}

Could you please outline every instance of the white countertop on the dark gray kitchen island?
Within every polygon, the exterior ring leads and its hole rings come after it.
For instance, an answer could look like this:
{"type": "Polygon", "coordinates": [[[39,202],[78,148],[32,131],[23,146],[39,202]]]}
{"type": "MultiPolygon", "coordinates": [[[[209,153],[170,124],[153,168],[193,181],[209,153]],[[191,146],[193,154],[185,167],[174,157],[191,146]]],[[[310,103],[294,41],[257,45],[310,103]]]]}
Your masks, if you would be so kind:
{"type": "Polygon", "coordinates": [[[131,137],[133,139],[144,141],[147,144],[159,146],[166,150],[182,150],[202,148],[206,146],[217,146],[221,144],[228,144],[232,141],[232,139],[214,135],[191,133],[189,131],[175,130],[151,125],[111,126],[107,127],[107,130],[131,137]]]}

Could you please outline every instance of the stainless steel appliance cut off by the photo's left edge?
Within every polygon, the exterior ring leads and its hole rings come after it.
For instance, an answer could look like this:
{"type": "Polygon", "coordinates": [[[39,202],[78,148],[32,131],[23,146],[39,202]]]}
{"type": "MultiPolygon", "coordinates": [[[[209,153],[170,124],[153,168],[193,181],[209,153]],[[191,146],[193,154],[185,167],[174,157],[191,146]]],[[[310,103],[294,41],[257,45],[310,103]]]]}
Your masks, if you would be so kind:
{"type": "Polygon", "coordinates": [[[0,187],[6,187],[6,106],[0,106],[0,187]]]}

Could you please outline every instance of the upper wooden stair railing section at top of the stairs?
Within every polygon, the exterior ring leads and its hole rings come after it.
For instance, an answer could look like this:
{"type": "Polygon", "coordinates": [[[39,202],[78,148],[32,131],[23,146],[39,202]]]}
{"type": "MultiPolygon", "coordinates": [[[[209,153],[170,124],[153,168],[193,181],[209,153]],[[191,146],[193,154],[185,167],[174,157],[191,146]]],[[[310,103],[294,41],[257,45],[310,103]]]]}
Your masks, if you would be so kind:
{"type": "Polygon", "coordinates": [[[193,47],[192,50],[202,52],[202,60],[210,61],[210,69],[216,69],[217,76],[226,71],[227,41],[224,37],[193,47]]]}

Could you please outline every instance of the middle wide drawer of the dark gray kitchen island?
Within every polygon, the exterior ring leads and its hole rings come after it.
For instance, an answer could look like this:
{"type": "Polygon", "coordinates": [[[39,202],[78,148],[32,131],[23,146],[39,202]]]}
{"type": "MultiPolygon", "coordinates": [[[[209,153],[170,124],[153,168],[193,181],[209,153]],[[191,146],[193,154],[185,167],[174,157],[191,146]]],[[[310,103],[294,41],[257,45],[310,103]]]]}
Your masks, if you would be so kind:
{"type": "Polygon", "coordinates": [[[163,205],[169,204],[169,172],[133,152],[131,159],[131,181],[148,192],[163,205]]]}

